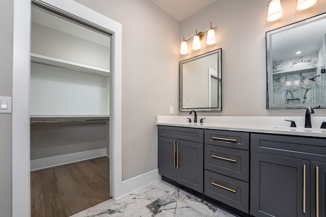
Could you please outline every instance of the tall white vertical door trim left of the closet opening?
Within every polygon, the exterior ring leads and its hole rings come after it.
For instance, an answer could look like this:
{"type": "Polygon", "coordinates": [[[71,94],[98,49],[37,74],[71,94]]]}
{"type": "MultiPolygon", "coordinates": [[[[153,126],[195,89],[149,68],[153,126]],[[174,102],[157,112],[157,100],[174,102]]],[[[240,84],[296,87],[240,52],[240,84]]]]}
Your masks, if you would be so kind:
{"type": "Polygon", "coordinates": [[[12,89],[12,216],[30,215],[31,3],[14,1],[12,89]]]}

